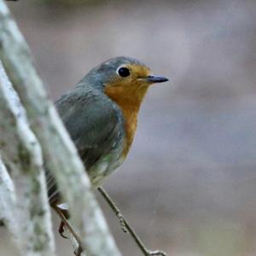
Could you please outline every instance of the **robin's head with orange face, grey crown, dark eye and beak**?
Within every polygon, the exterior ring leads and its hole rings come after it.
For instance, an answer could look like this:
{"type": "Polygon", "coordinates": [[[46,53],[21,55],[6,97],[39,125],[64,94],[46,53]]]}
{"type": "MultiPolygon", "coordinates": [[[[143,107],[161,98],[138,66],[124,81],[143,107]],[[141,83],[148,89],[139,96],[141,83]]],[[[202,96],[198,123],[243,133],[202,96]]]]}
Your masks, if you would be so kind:
{"type": "Polygon", "coordinates": [[[150,84],[168,81],[154,76],[142,62],[129,57],[116,57],[93,68],[84,79],[102,89],[108,96],[143,100],[150,84]]]}

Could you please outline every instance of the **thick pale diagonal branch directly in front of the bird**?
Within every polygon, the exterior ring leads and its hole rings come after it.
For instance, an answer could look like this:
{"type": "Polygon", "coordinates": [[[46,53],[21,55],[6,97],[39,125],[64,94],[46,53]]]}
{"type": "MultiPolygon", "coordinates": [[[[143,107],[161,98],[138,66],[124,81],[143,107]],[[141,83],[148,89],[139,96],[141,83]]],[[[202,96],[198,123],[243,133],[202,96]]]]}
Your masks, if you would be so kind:
{"type": "Polygon", "coordinates": [[[47,166],[67,200],[73,224],[88,255],[120,255],[76,148],[49,101],[32,55],[3,0],[0,0],[0,57],[24,104],[47,166]]]}

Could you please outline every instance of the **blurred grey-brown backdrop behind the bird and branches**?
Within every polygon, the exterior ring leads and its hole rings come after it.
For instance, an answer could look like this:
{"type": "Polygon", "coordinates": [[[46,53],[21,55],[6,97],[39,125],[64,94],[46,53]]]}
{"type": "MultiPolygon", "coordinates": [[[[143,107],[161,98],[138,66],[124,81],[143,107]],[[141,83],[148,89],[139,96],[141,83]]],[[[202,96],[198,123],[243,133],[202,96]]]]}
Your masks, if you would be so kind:
{"type": "MultiPolygon", "coordinates": [[[[170,79],[149,91],[131,154],[105,183],[146,245],[171,256],[256,255],[256,1],[9,7],[53,100],[116,55],[170,79]]],[[[141,255],[100,201],[120,250],[141,255]]],[[[58,255],[73,255],[58,223],[58,255]]],[[[0,255],[11,252],[1,229],[0,255]]]]}

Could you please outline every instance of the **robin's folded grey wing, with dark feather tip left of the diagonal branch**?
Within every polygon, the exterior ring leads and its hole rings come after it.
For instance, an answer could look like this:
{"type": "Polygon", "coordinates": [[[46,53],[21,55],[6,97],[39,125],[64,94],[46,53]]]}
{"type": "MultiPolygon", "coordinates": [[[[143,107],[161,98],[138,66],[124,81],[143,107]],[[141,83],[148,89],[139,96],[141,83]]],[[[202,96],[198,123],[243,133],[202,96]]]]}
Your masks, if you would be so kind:
{"type": "MultiPolygon", "coordinates": [[[[75,88],[55,102],[64,125],[75,143],[86,169],[90,169],[123,135],[120,110],[107,96],[75,88]]],[[[49,201],[58,197],[54,178],[46,173],[49,201]]]]}

